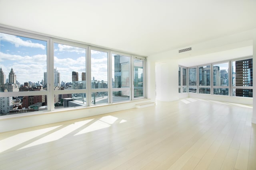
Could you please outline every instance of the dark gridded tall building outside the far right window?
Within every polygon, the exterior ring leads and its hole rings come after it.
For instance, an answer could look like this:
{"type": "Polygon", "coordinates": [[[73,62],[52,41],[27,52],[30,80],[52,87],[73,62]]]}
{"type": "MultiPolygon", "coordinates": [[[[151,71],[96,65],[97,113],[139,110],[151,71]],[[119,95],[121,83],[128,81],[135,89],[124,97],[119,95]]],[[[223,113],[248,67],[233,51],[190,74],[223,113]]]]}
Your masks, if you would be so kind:
{"type": "MultiPolygon", "coordinates": [[[[236,86],[252,86],[252,59],[236,61],[236,86]]],[[[236,89],[236,96],[252,97],[252,89],[236,89]]]]}

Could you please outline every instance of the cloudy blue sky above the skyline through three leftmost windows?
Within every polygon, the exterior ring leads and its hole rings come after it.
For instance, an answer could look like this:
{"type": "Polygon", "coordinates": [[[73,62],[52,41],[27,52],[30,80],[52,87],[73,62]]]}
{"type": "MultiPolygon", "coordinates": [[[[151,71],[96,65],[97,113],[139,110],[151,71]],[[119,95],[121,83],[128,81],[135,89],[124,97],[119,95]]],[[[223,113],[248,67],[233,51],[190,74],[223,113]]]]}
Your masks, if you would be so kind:
{"type": "MultiPolygon", "coordinates": [[[[6,78],[13,68],[20,84],[41,82],[46,72],[46,41],[0,33],[0,67],[6,78]]],[[[92,76],[107,81],[107,53],[91,51],[92,76]]],[[[60,81],[71,82],[72,71],[86,72],[86,49],[54,43],[54,68],[60,81]]]]}

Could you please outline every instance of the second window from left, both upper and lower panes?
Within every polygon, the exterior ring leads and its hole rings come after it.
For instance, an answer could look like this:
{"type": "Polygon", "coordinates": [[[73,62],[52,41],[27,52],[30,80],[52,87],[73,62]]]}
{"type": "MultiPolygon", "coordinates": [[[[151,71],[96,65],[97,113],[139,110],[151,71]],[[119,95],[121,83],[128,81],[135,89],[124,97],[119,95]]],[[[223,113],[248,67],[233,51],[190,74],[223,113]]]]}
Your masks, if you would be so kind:
{"type": "Polygon", "coordinates": [[[55,109],[86,106],[86,48],[77,46],[54,43],[55,109]]]}

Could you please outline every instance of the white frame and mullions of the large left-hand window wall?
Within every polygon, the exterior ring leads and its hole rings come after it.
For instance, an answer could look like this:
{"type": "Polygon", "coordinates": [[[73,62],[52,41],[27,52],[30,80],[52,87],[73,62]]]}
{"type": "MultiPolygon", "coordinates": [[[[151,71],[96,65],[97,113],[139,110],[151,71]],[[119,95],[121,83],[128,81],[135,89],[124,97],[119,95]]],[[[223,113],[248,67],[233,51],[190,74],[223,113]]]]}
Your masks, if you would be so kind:
{"type": "MultiPolygon", "coordinates": [[[[70,39],[65,39],[61,37],[55,37],[55,36],[50,36],[42,33],[36,33],[33,31],[28,31],[24,29],[19,29],[19,28],[14,28],[14,27],[5,27],[0,25],[0,32],[1,33],[6,33],[10,35],[15,35],[15,36],[21,36],[21,37],[26,37],[26,38],[32,38],[32,39],[37,39],[37,40],[42,40],[46,41],[46,72],[47,72],[47,90],[44,91],[26,91],[26,92],[8,92],[4,93],[1,92],[1,97],[10,97],[10,96],[40,96],[40,95],[46,95],[47,97],[47,111],[34,111],[32,113],[21,113],[21,114],[13,114],[13,115],[3,115],[1,117],[6,117],[6,116],[11,116],[11,117],[18,117],[22,115],[38,115],[41,113],[48,113],[50,111],[54,110],[64,110],[64,109],[55,109],[54,108],[54,95],[59,95],[59,94],[74,94],[74,93],[82,93],[86,94],[86,106],[81,106],[83,108],[85,107],[90,107],[92,106],[92,101],[91,101],[91,94],[92,92],[108,92],[108,104],[112,104],[112,92],[115,89],[112,89],[112,53],[115,54],[120,54],[124,55],[127,57],[130,57],[130,100],[138,100],[138,99],[144,99],[147,98],[147,79],[146,79],[146,71],[147,71],[147,57],[142,56],[142,55],[135,55],[132,53],[126,53],[123,51],[118,51],[114,49],[108,49],[104,47],[98,47],[96,45],[91,45],[87,44],[85,42],[79,42],[79,41],[74,41],[70,39]],[[54,90],[54,43],[60,43],[63,45],[70,45],[74,47],[80,47],[86,49],[86,89],[74,89],[74,90],[54,90]],[[91,82],[88,81],[91,78],[91,49],[96,50],[96,51],[102,51],[102,52],[107,52],[108,53],[108,88],[106,89],[92,89],[91,88],[91,82]],[[143,60],[143,96],[140,98],[134,98],[133,97],[133,64],[131,64],[133,59],[141,59],[143,60]]],[[[42,75],[43,76],[43,75],[42,75]]],[[[129,102],[126,101],[126,102],[129,102]]],[[[115,104],[118,104],[120,102],[114,102],[115,104]]],[[[79,108],[81,108],[79,107],[79,108]]],[[[70,107],[69,109],[76,109],[77,107],[70,107]]]]}

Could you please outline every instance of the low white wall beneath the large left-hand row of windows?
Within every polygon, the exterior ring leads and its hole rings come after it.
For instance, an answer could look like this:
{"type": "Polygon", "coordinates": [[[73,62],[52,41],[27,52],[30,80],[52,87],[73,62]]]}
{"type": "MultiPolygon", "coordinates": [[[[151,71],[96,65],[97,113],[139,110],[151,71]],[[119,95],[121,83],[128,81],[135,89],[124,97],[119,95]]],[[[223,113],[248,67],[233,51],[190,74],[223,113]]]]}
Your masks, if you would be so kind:
{"type": "Polygon", "coordinates": [[[27,127],[34,127],[39,125],[46,125],[61,121],[68,121],[72,119],[79,119],[82,117],[89,117],[93,115],[101,115],[104,113],[111,113],[125,109],[132,109],[136,104],[148,102],[149,100],[136,100],[132,102],[124,102],[122,104],[109,104],[106,106],[91,106],[87,108],[74,109],[67,108],[56,110],[44,114],[27,114],[27,115],[10,115],[0,117],[0,133],[5,131],[12,131],[16,129],[23,129],[27,127]]]}

